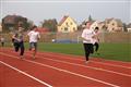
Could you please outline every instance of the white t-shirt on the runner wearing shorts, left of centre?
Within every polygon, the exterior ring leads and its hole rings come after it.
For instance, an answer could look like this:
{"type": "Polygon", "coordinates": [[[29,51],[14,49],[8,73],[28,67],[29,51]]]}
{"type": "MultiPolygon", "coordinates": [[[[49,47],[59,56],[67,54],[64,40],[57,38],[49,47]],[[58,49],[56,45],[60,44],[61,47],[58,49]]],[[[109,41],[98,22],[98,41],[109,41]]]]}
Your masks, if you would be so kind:
{"type": "Polygon", "coordinates": [[[40,35],[38,32],[31,30],[28,34],[29,42],[37,42],[38,38],[40,38],[40,35]]]}

